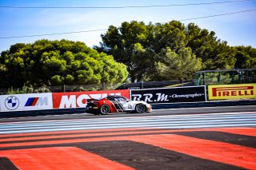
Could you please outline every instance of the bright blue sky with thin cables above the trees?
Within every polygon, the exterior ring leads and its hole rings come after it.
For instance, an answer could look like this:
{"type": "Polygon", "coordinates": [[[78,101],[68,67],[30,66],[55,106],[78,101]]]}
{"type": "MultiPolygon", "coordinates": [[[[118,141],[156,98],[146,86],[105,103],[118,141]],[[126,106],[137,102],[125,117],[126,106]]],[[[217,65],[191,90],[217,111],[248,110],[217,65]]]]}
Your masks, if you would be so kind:
{"type": "Polygon", "coordinates": [[[0,53],[10,45],[40,39],[67,39],[93,47],[102,42],[101,34],[111,25],[172,20],[214,31],[228,45],[256,48],[256,0],[0,0],[0,53]],[[209,17],[214,15],[218,16],[209,17]],[[80,33],[62,34],[71,32],[80,33]]]}

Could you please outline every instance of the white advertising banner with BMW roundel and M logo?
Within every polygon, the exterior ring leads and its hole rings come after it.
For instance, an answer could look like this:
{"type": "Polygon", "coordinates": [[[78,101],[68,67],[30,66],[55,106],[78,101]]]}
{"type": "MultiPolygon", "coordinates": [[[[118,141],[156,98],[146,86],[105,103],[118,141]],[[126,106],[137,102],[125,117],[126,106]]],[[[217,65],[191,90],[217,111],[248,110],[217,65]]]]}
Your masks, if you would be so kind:
{"type": "Polygon", "coordinates": [[[2,95],[0,108],[1,112],[53,109],[52,93],[2,95]]]}

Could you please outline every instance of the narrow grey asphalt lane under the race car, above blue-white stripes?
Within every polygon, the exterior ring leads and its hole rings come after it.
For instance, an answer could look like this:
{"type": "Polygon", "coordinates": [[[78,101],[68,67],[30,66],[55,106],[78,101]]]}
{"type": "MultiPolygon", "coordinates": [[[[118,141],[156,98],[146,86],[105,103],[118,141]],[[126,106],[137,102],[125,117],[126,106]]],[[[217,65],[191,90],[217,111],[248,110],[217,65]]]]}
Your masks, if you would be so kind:
{"type": "MultiPolygon", "coordinates": [[[[256,101],[255,101],[256,102],[256,101]]],[[[153,107],[154,108],[154,107],[153,107]]],[[[220,107],[199,107],[199,108],[178,108],[178,109],[153,109],[152,113],[133,114],[133,113],[113,113],[109,115],[93,115],[89,113],[31,113],[25,115],[11,115],[1,117],[2,122],[20,122],[20,121],[53,121],[53,120],[70,120],[70,119],[99,119],[110,117],[156,117],[164,115],[184,115],[184,114],[204,114],[204,113],[237,113],[237,112],[254,112],[256,105],[235,105],[220,107]]]]}

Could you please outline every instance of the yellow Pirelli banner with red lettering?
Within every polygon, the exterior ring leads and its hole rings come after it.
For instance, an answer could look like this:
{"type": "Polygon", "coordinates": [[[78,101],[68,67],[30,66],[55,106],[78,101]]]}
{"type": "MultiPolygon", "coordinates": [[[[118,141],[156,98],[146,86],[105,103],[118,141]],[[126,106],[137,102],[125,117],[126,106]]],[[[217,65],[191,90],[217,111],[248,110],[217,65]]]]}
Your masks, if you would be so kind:
{"type": "Polygon", "coordinates": [[[208,85],[209,100],[256,98],[256,84],[208,85]]]}

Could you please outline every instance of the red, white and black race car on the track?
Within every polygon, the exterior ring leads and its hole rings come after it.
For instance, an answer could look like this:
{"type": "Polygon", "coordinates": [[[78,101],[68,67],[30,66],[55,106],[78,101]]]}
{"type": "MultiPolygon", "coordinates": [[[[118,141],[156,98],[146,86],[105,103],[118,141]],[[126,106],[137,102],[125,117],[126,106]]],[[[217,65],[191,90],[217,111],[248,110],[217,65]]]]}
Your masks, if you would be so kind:
{"type": "Polygon", "coordinates": [[[86,113],[150,113],[152,106],[145,101],[130,101],[122,96],[109,96],[87,100],[86,113]]]}

